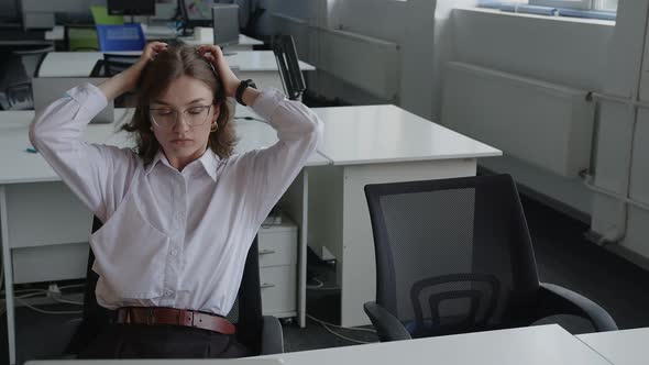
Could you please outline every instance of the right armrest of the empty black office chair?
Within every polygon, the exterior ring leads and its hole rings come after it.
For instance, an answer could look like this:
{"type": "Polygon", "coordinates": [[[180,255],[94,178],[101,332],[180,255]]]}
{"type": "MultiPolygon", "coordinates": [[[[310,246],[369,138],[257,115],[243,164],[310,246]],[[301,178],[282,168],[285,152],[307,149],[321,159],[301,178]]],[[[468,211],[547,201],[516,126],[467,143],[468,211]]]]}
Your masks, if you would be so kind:
{"type": "Polygon", "coordinates": [[[608,312],[591,299],[558,285],[540,284],[540,313],[574,314],[588,319],[595,331],[616,331],[617,324],[608,312]]]}

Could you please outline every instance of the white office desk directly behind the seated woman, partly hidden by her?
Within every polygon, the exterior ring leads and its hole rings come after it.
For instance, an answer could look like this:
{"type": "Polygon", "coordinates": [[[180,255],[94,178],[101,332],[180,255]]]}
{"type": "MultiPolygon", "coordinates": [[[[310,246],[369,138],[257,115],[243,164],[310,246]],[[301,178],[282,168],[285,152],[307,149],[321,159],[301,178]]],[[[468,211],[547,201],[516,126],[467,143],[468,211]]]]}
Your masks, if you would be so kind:
{"type": "MultiPolygon", "coordinates": [[[[127,121],[131,112],[116,109],[116,123],[90,124],[86,141],[120,147],[132,145],[124,132],[116,133],[120,122],[127,121]]],[[[237,114],[256,117],[243,107],[238,108],[237,114]]],[[[4,284],[11,364],[15,363],[13,284],[85,277],[91,225],[91,212],[50,165],[38,154],[25,152],[30,146],[28,126],[33,118],[33,111],[0,112],[0,243],[7,268],[4,284]]],[[[248,120],[237,120],[235,123],[240,137],[238,153],[270,146],[277,141],[276,132],[270,125],[248,120]]],[[[328,163],[327,158],[314,153],[307,166],[328,163]]],[[[307,188],[308,173],[305,169],[279,202],[299,229],[297,310],[293,314],[302,327],[306,320],[307,188]]],[[[287,314],[290,313],[283,313],[287,314]]]]}

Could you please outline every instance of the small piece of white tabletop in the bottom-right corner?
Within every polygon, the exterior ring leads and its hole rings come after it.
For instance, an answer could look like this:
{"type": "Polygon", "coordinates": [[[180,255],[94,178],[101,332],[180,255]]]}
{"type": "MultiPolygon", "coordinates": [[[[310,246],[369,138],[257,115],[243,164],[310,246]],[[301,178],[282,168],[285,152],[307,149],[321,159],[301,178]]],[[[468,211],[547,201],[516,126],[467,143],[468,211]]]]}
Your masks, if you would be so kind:
{"type": "Polygon", "coordinates": [[[615,365],[649,364],[649,328],[578,335],[615,365]]]}

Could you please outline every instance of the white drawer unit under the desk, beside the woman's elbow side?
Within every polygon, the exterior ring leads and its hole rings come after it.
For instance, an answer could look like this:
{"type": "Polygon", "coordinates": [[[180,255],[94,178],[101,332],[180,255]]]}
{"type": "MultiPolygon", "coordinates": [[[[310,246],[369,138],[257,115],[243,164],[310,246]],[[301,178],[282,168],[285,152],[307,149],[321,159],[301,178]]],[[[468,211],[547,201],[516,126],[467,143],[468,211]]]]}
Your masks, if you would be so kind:
{"type": "Polygon", "coordinates": [[[265,316],[297,316],[298,229],[286,215],[258,231],[260,285],[265,316]]]}

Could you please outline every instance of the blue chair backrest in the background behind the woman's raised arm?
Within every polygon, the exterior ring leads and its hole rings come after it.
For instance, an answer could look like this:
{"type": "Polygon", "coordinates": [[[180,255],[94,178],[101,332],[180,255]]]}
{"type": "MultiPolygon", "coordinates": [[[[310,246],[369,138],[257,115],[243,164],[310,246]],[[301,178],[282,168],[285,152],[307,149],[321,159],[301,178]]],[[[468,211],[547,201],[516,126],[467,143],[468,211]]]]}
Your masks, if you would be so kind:
{"type": "Polygon", "coordinates": [[[142,51],[146,45],[144,32],[139,23],[97,24],[99,51],[142,51]]]}

